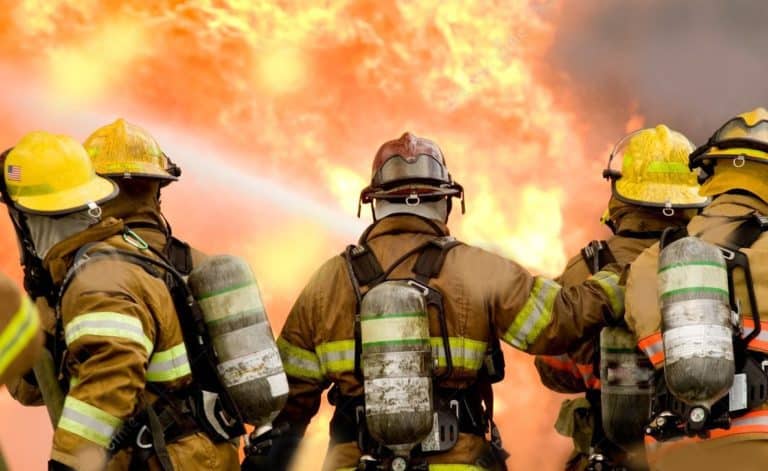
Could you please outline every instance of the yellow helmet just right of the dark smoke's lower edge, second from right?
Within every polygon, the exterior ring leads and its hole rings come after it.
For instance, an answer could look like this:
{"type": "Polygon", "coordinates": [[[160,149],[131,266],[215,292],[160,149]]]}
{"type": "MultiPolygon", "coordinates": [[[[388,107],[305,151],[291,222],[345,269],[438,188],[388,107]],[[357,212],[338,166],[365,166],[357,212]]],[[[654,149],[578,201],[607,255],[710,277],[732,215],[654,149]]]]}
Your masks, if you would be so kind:
{"type": "Polygon", "coordinates": [[[701,208],[709,199],[699,195],[695,172],[688,168],[693,144],[687,137],[660,124],[640,129],[621,139],[611,152],[603,177],[621,201],[638,206],[701,208]],[[611,168],[621,162],[621,171],[611,168]]]}

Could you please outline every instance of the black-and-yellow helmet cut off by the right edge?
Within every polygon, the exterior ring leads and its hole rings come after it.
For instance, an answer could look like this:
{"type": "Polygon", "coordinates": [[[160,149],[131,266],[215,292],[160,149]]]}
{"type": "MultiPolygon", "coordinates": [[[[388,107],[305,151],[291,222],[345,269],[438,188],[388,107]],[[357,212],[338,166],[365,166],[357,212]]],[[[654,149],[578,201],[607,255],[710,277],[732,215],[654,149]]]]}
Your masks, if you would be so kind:
{"type": "Polygon", "coordinates": [[[692,169],[701,168],[708,178],[718,159],[732,159],[736,168],[742,167],[746,160],[768,163],[768,111],[765,108],[755,108],[728,120],[693,151],[689,164],[692,169]]]}

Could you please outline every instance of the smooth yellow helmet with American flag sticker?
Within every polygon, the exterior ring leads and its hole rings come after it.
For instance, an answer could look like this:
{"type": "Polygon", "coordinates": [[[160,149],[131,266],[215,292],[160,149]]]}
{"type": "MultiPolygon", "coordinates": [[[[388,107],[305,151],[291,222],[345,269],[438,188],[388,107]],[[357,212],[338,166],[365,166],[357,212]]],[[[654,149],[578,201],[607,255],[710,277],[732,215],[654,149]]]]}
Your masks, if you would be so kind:
{"type": "Polygon", "coordinates": [[[57,216],[111,200],[117,186],[96,175],[91,159],[69,136],[31,132],[3,163],[5,191],[23,212],[57,216]]]}

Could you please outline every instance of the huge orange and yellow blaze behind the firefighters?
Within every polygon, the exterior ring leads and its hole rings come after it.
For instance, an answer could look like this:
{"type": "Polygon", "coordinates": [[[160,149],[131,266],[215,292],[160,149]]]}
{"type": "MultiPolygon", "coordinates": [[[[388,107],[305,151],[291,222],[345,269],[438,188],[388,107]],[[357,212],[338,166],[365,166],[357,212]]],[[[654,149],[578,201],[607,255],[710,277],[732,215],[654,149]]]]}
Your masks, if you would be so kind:
{"type": "MultiPolygon", "coordinates": [[[[197,185],[185,197],[200,208],[189,211],[185,200],[168,217],[193,243],[221,251],[216,243],[225,239],[224,248],[250,257],[276,327],[311,272],[352,240],[345,233],[338,241],[333,224],[297,219],[306,213],[288,206],[244,224],[252,216],[215,205],[269,202],[233,196],[242,183],[211,184],[201,168],[213,174],[236,163],[353,218],[376,149],[408,130],[437,141],[465,186],[468,213],[454,208],[450,221],[459,238],[535,271],[559,272],[566,254],[589,240],[566,246],[565,228],[573,232],[582,212],[599,213],[607,199],[600,187],[598,198],[576,195],[592,206],[569,207],[574,188],[586,188],[577,183],[599,183],[599,174],[583,149],[580,116],[542,77],[556,27],[545,13],[560,2],[307,3],[24,0],[0,18],[0,68],[41,83],[47,102],[69,116],[130,111],[215,147],[215,154],[193,148],[174,156],[193,164],[178,185],[197,185]]],[[[9,111],[24,111],[32,116],[24,125],[39,127],[39,109],[9,111]]],[[[74,121],[54,124],[87,135],[74,121]]],[[[551,429],[555,396],[538,385],[530,358],[510,356],[508,369],[511,378],[497,390],[510,451],[521,456],[546,444],[556,452],[536,463],[556,469],[562,461],[554,455],[567,442],[555,441],[551,429]]],[[[301,457],[307,469],[324,454],[327,421],[322,409],[301,457]]]]}

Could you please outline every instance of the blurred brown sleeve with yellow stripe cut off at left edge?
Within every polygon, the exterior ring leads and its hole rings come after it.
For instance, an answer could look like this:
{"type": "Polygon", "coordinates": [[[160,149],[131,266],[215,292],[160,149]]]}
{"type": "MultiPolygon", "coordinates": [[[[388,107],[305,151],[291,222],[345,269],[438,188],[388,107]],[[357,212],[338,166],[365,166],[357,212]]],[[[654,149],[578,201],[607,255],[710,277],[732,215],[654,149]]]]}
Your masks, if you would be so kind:
{"type": "Polygon", "coordinates": [[[0,301],[0,385],[15,384],[42,349],[40,317],[32,301],[5,275],[0,275],[0,301]]]}

